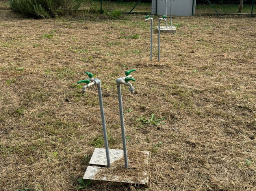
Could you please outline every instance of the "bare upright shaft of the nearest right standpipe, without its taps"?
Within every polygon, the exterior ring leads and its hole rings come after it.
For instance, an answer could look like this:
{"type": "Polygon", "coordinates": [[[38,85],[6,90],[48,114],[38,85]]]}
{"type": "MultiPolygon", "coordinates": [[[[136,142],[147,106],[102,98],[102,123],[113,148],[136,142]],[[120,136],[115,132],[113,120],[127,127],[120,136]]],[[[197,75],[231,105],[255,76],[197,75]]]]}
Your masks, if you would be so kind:
{"type": "Polygon", "coordinates": [[[119,115],[120,115],[120,121],[121,121],[121,131],[122,131],[122,148],[124,151],[124,166],[126,169],[128,169],[128,158],[127,158],[125,129],[124,129],[124,114],[122,111],[122,93],[121,93],[120,84],[117,85],[117,94],[118,94],[119,115]]]}

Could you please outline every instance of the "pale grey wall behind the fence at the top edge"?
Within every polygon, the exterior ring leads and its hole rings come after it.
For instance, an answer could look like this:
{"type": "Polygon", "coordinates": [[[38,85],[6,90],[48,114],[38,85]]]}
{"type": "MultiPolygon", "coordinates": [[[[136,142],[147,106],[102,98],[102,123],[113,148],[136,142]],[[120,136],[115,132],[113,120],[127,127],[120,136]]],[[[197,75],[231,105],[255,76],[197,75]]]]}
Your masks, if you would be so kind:
{"type": "MultiPolygon", "coordinates": [[[[174,16],[191,16],[193,0],[171,0],[172,2],[172,15],[174,16]]],[[[152,0],[151,13],[156,14],[156,2],[157,2],[157,14],[165,15],[165,0],[152,0]]],[[[194,0],[194,9],[195,9],[194,0]]],[[[194,11],[195,13],[195,11],[194,11]]],[[[167,15],[170,15],[170,0],[167,0],[167,15]]]]}

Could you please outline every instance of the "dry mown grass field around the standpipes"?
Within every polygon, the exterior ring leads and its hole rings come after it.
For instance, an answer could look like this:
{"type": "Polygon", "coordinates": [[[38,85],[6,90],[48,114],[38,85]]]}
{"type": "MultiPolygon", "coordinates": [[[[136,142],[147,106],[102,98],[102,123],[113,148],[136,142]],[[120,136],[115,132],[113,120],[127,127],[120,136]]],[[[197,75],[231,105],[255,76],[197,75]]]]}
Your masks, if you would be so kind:
{"type": "MultiPolygon", "coordinates": [[[[34,20],[0,10],[0,190],[76,191],[103,147],[102,81],[110,148],[122,149],[116,78],[128,150],[151,151],[150,187],[89,184],[86,191],[256,190],[256,18],[175,17],[177,33],[121,20],[34,20]]],[[[154,27],[157,26],[154,19],[154,27]]],[[[129,157],[129,156],[128,156],[129,157]]],[[[82,189],[81,189],[82,190],[82,189]]]]}

